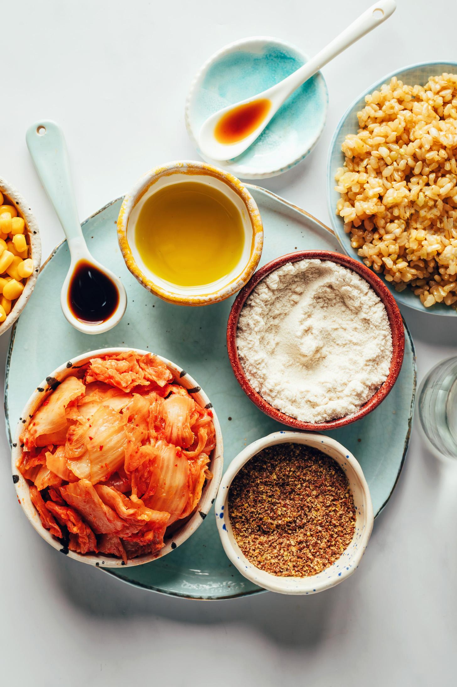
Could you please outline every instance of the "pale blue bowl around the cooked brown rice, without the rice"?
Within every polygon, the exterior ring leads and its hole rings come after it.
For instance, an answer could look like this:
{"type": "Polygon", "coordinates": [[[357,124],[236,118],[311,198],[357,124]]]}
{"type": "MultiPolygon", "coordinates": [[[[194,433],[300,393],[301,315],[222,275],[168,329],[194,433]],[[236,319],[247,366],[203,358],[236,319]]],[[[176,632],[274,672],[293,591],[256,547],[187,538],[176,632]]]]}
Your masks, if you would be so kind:
{"type": "MultiPolygon", "coordinates": [[[[419,84],[423,86],[427,83],[430,76],[437,76],[438,74],[443,74],[447,71],[451,74],[456,74],[457,72],[457,62],[425,62],[419,65],[410,65],[410,67],[403,67],[398,71],[392,71],[392,74],[384,76],[381,80],[377,81],[375,84],[360,95],[357,100],[355,100],[347,109],[347,111],[342,115],[340,123],[336,127],[336,131],[331,139],[331,144],[329,148],[329,157],[327,160],[327,204],[329,207],[329,215],[331,220],[331,226],[333,227],[338,240],[342,245],[344,252],[355,260],[363,262],[357,254],[357,251],[351,247],[351,239],[349,234],[344,232],[344,222],[342,217],[336,214],[336,203],[340,199],[340,194],[335,190],[336,181],[335,174],[338,167],[342,167],[344,164],[344,155],[341,150],[342,142],[348,133],[357,133],[359,130],[359,123],[357,118],[357,113],[363,109],[365,104],[365,95],[368,93],[373,93],[379,89],[383,84],[390,81],[392,76],[396,76],[399,80],[403,81],[408,85],[419,84]]],[[[382,277],[382,275],[379,275],[382,277]]],[[[386,282],[382,278],[384,284],[390,289],[392,294],[395,296],[397,301],[409,308],[414,308],[414,310],[420,310],[423,313],[428,313],[429,315],[450,315],[450,317],[456,317],[456,311],[454,308],[449,308],[444,303],[436,303],[431,308],[425,308],[421,303],[418,296],[412,293],[411,289],[405,289],[404,291],[395,291],[394,286],[386,282]]]]}

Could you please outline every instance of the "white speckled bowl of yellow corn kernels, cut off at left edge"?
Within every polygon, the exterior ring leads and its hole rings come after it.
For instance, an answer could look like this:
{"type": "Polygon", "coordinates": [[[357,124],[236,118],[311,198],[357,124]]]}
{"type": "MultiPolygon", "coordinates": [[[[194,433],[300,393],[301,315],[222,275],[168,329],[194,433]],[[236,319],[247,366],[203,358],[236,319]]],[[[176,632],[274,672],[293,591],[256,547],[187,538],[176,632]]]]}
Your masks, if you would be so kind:
{"type": "Polygon", "coordinates": [[[23,311],[40,263],[36,219],[16,189],[0,178],[0,335],[23,311]]]}

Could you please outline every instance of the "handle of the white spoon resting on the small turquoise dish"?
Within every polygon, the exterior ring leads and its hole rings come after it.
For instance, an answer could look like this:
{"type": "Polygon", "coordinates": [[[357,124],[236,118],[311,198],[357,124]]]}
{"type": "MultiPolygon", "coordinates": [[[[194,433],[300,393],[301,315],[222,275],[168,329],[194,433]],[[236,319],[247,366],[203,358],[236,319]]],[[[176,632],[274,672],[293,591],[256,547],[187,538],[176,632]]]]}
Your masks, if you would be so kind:
{"type": "Polygon", "coordinates": [[[307,79],[311,78],[316,71],[322,69],[330,60],[333,60],[347,47],[358,41],[360,38],[373,31],[379,24],[382,24],[389,18],[395,9],[397,3],[395,0],[379,0],[379,2],[371,5],[368,10],[365,10],[358,19],[355,19],[339,36],[333,38],[333,41],[323,48],[317,55],[312,57],[308,62],[290,74],[282,82],[283,89],[281,89],[281,100],[289,97],[298,86],[303,84],[307,79]]]}

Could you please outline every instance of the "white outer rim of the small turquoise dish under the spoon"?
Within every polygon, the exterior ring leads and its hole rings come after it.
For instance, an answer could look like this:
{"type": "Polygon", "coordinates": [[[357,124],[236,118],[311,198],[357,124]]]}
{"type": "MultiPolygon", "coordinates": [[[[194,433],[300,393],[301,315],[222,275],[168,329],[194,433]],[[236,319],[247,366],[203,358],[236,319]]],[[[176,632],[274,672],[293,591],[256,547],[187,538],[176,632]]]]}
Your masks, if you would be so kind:
{"type": "MultiPolygon", "coordinates": [[[[288,164],[283,164],[281,166],[274,166],[270,167],[268,169],[265,169],[261,172],[255,171],[255,169],[250,168],[249,163],[243,164],[242,161],[239,163],[234,162],[233,160],[229,161],[214,161],[211,158],[203,155],[200,151],[200,148],[198,148],[198,143],[196,140],[196,133],[194,133],[192,125],[191,125],[191,107],[194,104],[194,101],[196,99],[196,93],[198,93],[198,87],[201,86],[202,79],[204,76],[207,74],[207,71],[209,67],[211,67],[213,64],[215,64],[220,58],[229,55],[233,52],[241,52],[241,48],[248,45],[248,44],[258,44],[259,46],[261,45],[268,45],[270,43],[273,46],[281,47],[285,50],[288,50],[290,52],[296,53],[301,58],[303,58],[304,63],[309,60],[309,56],[303,52],[300,48],[296,47],[296,45],[292,43],[288,43],[287,41],[282,41],[281,38],[274,38],[273,36],[248,36],[247,38],[239,38],[237,41],[233,41],[233,43],[229,43],[228,45],[225,45],[222,47],[220,50],[217,52],[213,53],[207,60],[204,62],[202,67],[198,70],[196,73],[196,76],[194,76],[194,79],[191,82],[191,85],[189,87],[189,91],[187,93],[187,98],[185,102],[185,124],[187,128],[187,133],[189,135],[189,138],[191,139],[191,142],[194,144],[196,151],[204,161],[206,161],[208,164],[212,164],[216,167],[220,167],[223,170],[226,170],[228,172],[231,172],[232,174],[235,174],[237,177],[241,177],[242,179],[268,179],[270,177],[277,177],[279,174],[283,174],[283,172],[287,172],[288,170],[292,169],[295,167],[298,163],[300,163],[311,151],[314,149],[316,146],[318,140],[320,139],[320,136],[322,135],[324,128],[325,128],[325,122],[327,120],[327,111],[328,111],[328,106],[329,106],[329,91],[327,89],[327,83],[325,82],[325,78],[322,74],[321,71],[316,72],[314,74],[314,77],[318,80],[318,84],[320,87],[320,95],[324,96],[323,97],[323,102],[320,103],[319,106],[322,106],[322,113],[321,113],[321,124],[316,131],[316,134],[314,135],[314,139],[312,140],[311,145],[307,145],[305,147],[305,150],[301,150],[301,152],[294,157],[288,164]],[[229,163],[229,164],[227,164],[229,163]]],[[[246,50],[246,52],[248,52],[246,50]]],[[[268,127],[267,127],[268,128],[268,127]]],[[[253,144],[255,145],[255,144],[253,144]]],[[[250,146],[252,147],[252,146],[250,146]]],[[[248,148],[249,150],[249,148],[248,148]]],[[[239,156],[241,158],[242,156],[239,156]]],[[[238,158],[238,159],[239,159],[238,158]]],[[[236,159],[236,158],[235,158],[236,159]]]]}

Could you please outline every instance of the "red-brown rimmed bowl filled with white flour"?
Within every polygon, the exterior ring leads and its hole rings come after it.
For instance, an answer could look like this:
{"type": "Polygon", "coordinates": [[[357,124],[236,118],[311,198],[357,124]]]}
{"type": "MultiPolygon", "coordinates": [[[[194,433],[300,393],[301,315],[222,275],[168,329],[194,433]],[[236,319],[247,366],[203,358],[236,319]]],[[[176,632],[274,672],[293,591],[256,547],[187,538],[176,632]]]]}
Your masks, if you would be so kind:
{"type": "Polygon", "coordinates": [[[296,429],[333,429],[381,403],[405,346],[394,297],[364,264],[297,251],[259,269],[239,292],[227,349],[244,392],[296,429]]]}

